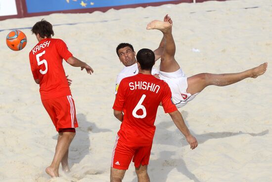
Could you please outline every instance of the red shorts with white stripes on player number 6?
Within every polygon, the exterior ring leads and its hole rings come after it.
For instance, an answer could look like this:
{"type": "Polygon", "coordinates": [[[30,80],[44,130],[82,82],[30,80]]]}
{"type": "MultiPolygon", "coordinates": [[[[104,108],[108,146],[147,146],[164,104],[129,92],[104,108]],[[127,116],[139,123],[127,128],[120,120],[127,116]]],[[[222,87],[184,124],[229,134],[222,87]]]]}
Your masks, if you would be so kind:
{"type": "Polygon", "coordinates": [[[120,141],[117,135],[111,157],[111,167],[127,170],[132,159],[136,168],[140,165],[148,165],[151,147],[152,144],[150,146],[132,146],[126,144],[120,141]]]}

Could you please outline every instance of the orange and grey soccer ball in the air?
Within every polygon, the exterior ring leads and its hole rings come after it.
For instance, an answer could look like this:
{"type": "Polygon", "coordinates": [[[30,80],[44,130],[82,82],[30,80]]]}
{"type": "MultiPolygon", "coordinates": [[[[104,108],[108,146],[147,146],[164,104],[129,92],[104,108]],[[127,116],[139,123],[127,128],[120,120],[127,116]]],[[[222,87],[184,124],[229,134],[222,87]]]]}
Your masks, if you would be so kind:
{"type": "Polygon", "coordinates": [[[22,50],[26,46],[26,35],[19,31],[14,30],[6,36],[6,45],[14,51],[22,50]]]}

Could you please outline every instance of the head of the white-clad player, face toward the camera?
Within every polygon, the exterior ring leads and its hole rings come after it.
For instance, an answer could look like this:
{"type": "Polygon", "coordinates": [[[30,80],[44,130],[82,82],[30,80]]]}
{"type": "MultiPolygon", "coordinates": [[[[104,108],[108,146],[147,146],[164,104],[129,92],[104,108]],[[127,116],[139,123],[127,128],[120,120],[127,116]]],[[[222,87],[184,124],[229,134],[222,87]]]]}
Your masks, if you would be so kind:
{"type": "Polygon", "coordinates": [[[131,66],[137,62],[135,58],[136,53],[134,51],[134,48],[129,43],[120,43],[116,47],[116,53],[119,57],[119,60],[126,67],[131,66]]]}

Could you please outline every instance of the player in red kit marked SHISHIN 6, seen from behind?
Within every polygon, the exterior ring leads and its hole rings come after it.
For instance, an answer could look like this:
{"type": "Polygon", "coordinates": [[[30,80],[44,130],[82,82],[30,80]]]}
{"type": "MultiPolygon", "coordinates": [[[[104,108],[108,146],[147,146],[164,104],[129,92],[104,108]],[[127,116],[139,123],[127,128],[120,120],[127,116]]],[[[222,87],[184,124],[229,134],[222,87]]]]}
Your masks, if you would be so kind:
{"type": "Polygon", "coordinates": [[[141,49],[136,58],[139,72],[122,79],[113,105],[114,116],[122,124],[112,154],[111,182],[122,182],[132,159],[138,182],[150,182],[147,165],[155,133],[154,121],[160,103],[185,136],[191,149],[198,145],[186,127],[181,113],[171,102],[169,86],[151,74],[155,64],[153,51],[141,49]]]}

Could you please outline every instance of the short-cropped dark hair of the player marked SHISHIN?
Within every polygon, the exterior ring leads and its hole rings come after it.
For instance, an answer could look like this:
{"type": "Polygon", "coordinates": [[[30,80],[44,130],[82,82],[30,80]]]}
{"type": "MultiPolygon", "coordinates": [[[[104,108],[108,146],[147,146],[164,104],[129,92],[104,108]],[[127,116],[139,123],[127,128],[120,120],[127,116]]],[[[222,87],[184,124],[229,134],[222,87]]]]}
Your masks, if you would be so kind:
{"type": "Polygon", "coordinates": [[[136,58],[142,70],[152,70],[155,64],[155,54],[152,50],[141,49],[138,51],[136,58]]]}

